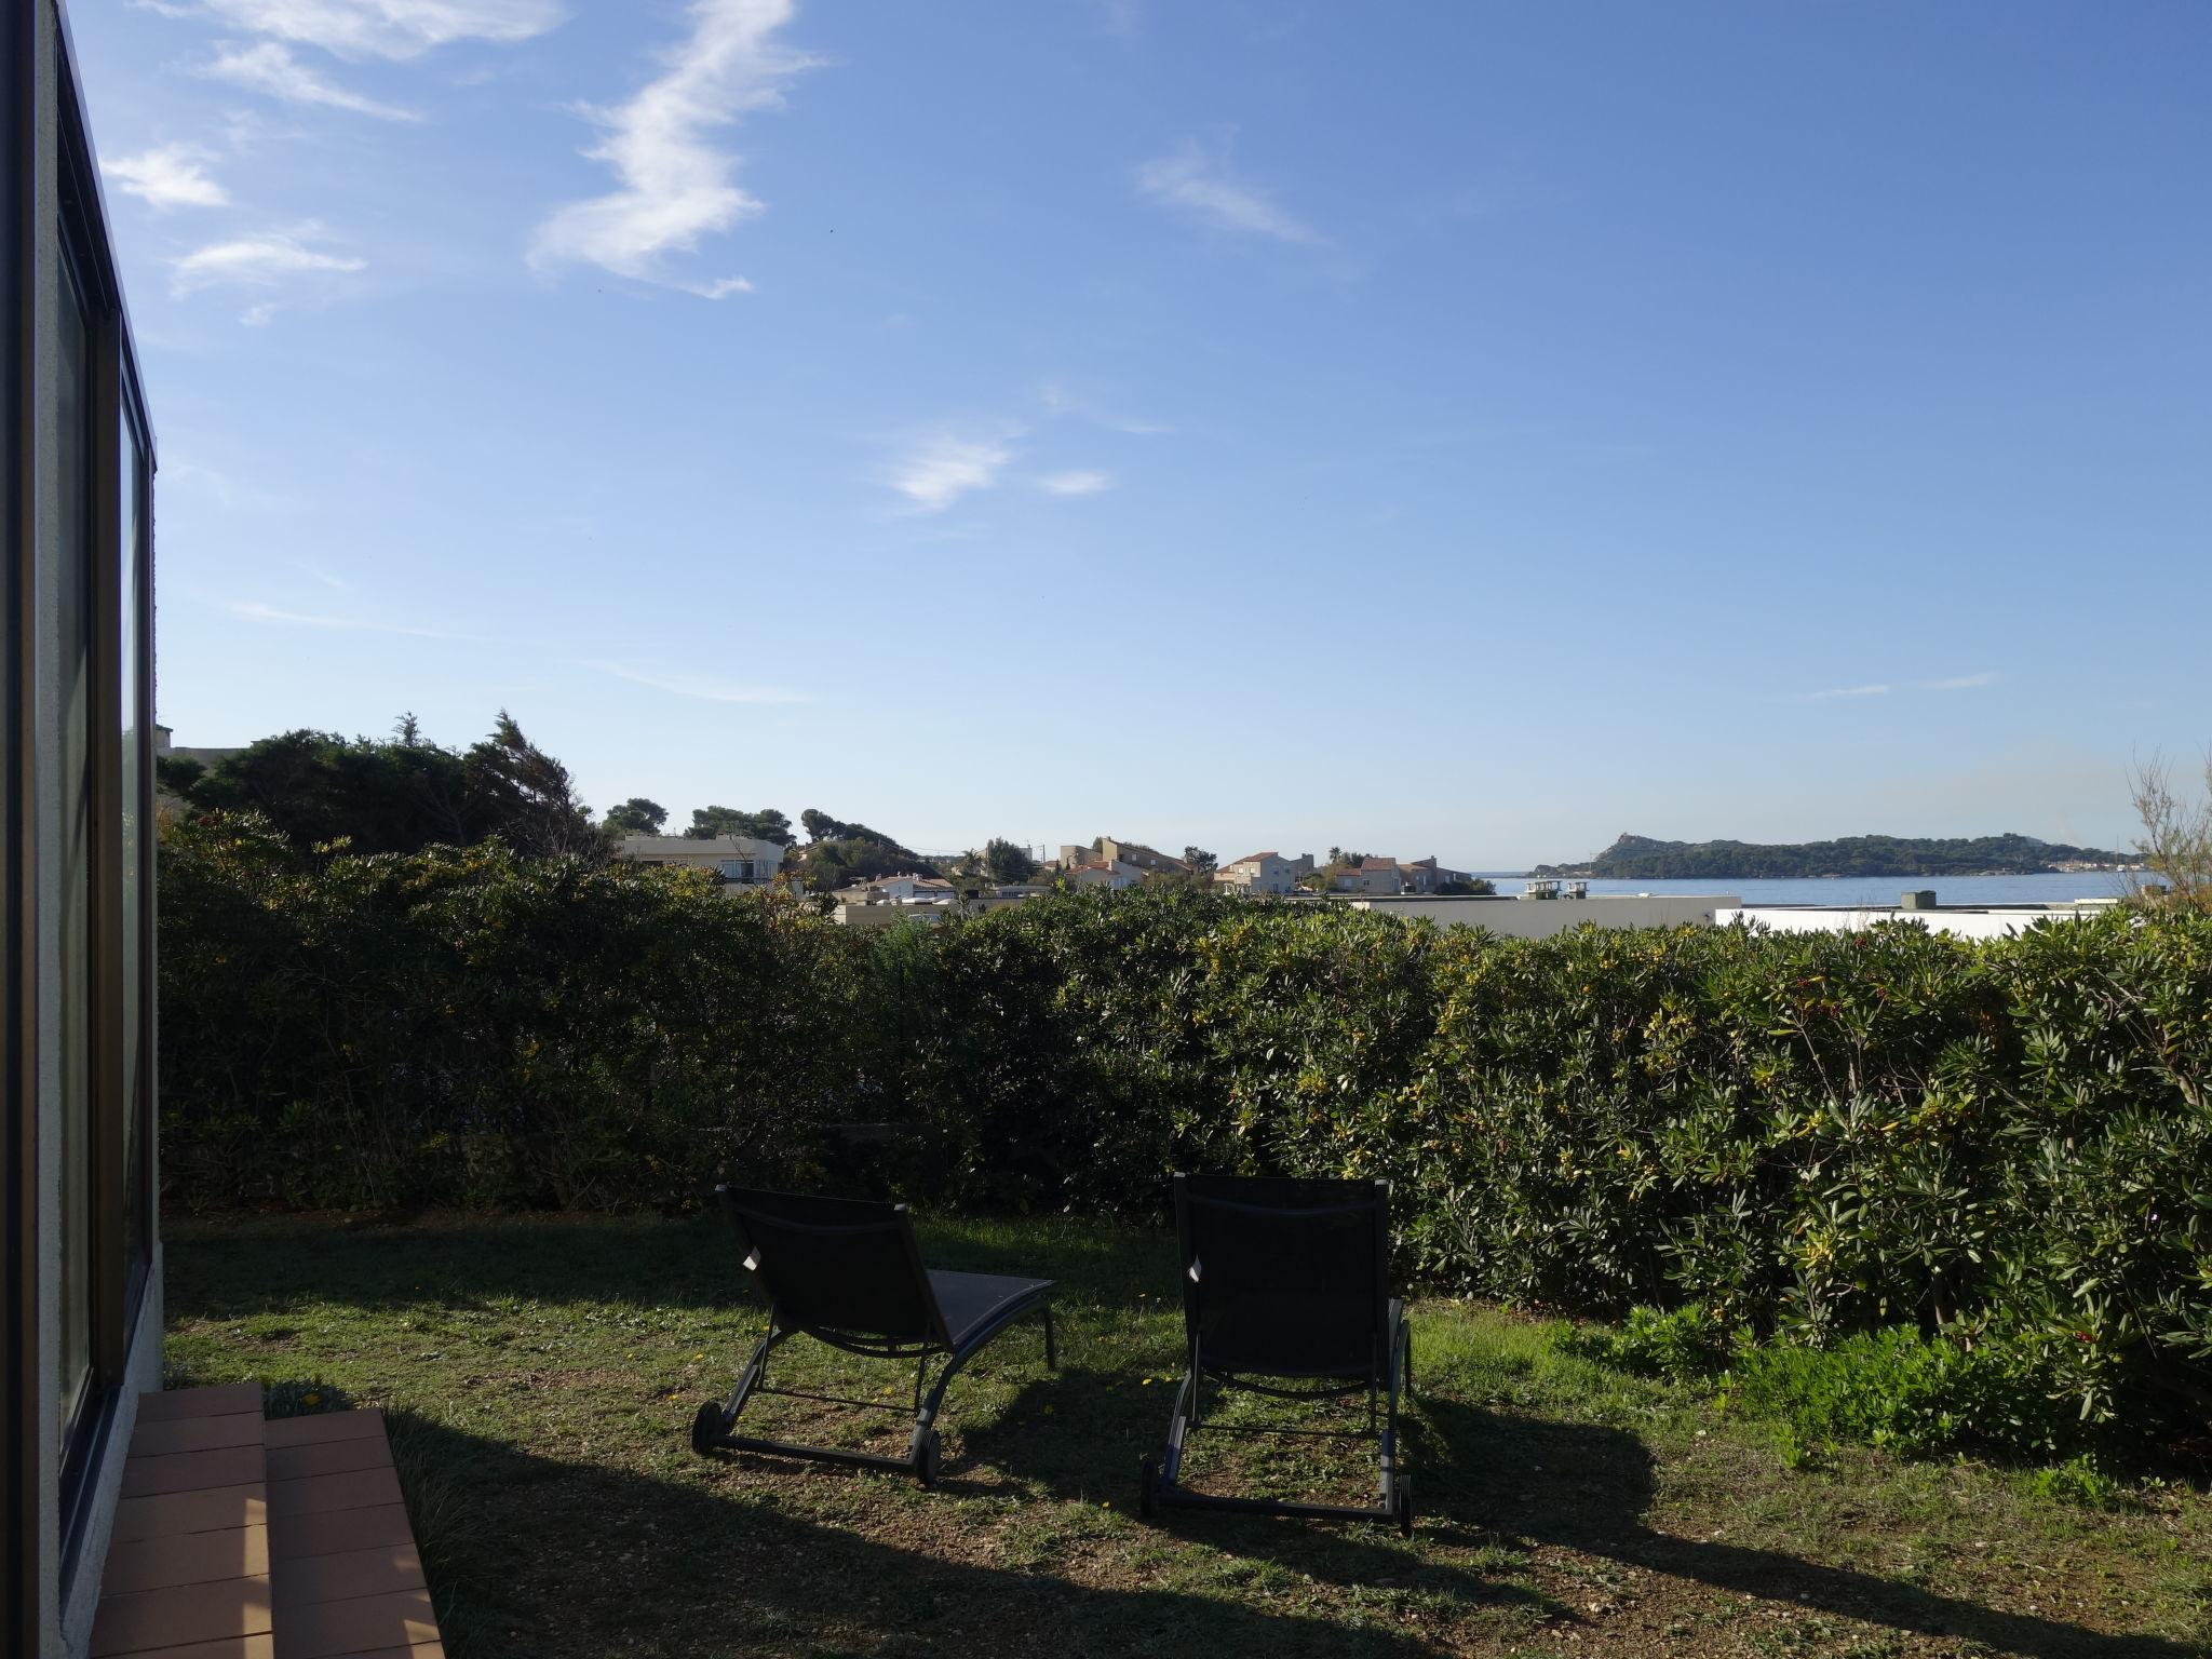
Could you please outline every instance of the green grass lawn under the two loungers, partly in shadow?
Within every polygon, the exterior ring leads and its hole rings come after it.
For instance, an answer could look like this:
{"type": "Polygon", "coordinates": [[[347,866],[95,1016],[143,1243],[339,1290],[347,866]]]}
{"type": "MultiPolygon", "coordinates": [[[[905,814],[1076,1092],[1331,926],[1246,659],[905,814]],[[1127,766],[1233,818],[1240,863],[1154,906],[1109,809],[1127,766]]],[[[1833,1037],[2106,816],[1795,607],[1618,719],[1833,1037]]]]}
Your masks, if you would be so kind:
{"type": "MultiPolygon", "coordinates": [[[[396,1413],[460,1659],[493,1655],[2203,1655],[2212,1500],[2112,1509],[1984,1464],[1790,1469],[1694,1389],[1559,1352],[1559,1327],[1413,1307],[1422,1520],[1135,1515],[1181,1347],[1172,1239],[922,1228],[931,1265],[1060,1281],[1060,1369],[1015,1325],[947,1396],[945,1480],[701,1460],[763,1310],[712,1217],[186,1223],[177,1383],[316,1378],[396,1413]]],[[[783,1380],[911,1389],[805,1340],[783,1380]],[[816,1358],[821,1356],[821,1358],[816,1358]]],[[[783,1365],[779,1354],[779,1367],[783,1365]]],[[[799,1402],[752,1433],[905,1453],[900,1413],[799,1402]]],[[[1371,1502],[1318,1440],[1199,1438],[1214,1491],[1371,1502]]]]}

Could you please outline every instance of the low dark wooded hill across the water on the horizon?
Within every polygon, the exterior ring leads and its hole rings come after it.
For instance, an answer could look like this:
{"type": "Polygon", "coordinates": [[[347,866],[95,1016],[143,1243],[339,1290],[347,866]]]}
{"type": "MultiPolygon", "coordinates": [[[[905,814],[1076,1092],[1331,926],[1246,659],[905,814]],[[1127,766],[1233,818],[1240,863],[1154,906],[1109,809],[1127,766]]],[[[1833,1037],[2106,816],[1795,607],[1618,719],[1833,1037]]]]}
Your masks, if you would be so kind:
{"type": "Polygon", "coordinates": [[[1652,841],[1621,836],[1584,865],[1537,865],[1533,876],[1610,880],[1790,880],[1796,876],[2044,876],[2081,865],[2132,865],[2135,854],[2066,847],[2035,836],[1845,836],[1798,845],[1652,841]]]}

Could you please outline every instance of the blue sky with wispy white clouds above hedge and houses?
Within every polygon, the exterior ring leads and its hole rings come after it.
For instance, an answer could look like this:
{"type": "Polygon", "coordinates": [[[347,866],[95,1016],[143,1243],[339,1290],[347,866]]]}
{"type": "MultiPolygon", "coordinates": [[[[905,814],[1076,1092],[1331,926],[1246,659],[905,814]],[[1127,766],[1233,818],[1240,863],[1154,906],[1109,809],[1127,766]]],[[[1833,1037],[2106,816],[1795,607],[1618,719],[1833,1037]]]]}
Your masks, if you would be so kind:
{"type": "Polygon", "coordinates": [[[1513,869],[2212,741],[2212,9],[71,0],[188,745],[1513,869]]]}

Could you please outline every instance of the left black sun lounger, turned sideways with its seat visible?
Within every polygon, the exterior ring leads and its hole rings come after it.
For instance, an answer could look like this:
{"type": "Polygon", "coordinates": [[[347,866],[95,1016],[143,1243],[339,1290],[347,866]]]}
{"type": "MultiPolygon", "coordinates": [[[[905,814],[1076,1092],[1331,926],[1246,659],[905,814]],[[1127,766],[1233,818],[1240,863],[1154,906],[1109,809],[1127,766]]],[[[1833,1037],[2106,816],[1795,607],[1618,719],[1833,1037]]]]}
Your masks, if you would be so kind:
{"type": "Polygon", "coordinates": [[[737,1250],[768,1292],[768,1334],[752,1349],[728,1405],[708,1400],[692,1420],[692,1451],[717,1447],[781,1458],[818,1458],[863,1469],[907,1469],[925,1486],[938,1478],[938,1405],[953,1374],[1024,1314],[1044,1314],[1044,1363],[1053,1365],[1053,1281],[1000,1274],[953,1274],[922,1267],[914,1219],[902,1203],[814,1199],[794,1192],[745,1192],[719,1186],[714,1197],[737,1228],[737,1250]],[[880,1400],[768,1387],[768,1356],[794,1336],[812,1336],[847,1354],[914,1360],[914,1440],[905,1458],[878,1458],[834,1447],[752,1440],[737,1413],[754,1394],[900,1411],[880,1400]],[[929,1360],[945,1356],[936,1385],[929,1360]]]}

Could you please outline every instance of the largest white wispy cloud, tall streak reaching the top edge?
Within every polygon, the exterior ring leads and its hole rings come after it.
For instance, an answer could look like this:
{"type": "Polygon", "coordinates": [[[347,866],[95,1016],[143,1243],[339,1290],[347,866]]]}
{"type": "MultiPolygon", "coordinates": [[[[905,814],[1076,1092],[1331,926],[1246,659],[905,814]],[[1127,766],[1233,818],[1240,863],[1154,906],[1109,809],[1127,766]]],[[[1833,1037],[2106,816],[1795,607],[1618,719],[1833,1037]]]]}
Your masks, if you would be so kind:
{"type": "MultiPolygon", "coordinates": [[[[732,181],[737,157],[710,135],[754,108],[783,102],[783,84],[814,64],[776,44],[790,0],[695,0],[690,38],[666,53],[668,69],[626,104],[584,108],[606,137],[586,155],[606,161],[617,190],[546,215],[531,265],[599,265],[617,276],[670,281],[668,254],[690,252],[763,210],[732,181]]],[[[741,276],[677,288],[721,299],[750,288],[741,276]]]]}

